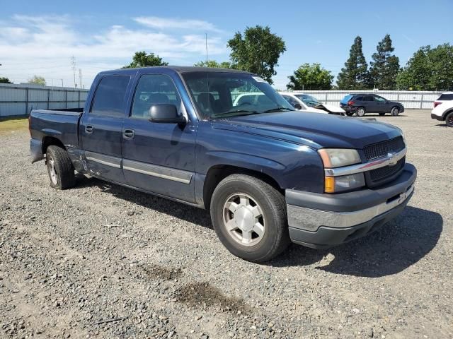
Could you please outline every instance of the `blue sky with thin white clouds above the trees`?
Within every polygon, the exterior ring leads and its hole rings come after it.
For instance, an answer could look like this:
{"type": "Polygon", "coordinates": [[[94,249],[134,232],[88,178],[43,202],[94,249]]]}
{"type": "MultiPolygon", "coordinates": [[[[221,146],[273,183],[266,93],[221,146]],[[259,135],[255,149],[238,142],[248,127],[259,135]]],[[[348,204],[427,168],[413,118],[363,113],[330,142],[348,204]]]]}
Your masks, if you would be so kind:
{"type": "Polygon", "coordinates": [[[137,50],[170,64],[192,65],[229,57],[226,41],[246,26],[269,25],[283,37],[275,87],[305,62],[340,71],[357,35],[367,62],[391,35],[401,64],[418,47],[453,43],[453,0],[433,1],[9,1],[0,3],[0,76],[25,82],[34,74],[48,85],[74,83],[70,57],[83,83],[98,71],[128,64],[137,50]]]}

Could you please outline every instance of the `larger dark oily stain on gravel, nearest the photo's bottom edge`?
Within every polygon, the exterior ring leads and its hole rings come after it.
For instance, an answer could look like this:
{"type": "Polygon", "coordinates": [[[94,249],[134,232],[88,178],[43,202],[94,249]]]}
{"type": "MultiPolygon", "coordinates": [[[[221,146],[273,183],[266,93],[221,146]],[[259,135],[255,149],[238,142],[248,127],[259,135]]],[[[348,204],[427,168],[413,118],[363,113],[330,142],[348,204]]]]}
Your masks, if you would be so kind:
{"type": "Polygon", "coordinates": [[[192,283],[176,291],[178,302],[190,307],[219,308],[222,311],[233,311],[236,314],[250,314],[251,308],[242,299],[228,297],[210,283],[192,283]]]}

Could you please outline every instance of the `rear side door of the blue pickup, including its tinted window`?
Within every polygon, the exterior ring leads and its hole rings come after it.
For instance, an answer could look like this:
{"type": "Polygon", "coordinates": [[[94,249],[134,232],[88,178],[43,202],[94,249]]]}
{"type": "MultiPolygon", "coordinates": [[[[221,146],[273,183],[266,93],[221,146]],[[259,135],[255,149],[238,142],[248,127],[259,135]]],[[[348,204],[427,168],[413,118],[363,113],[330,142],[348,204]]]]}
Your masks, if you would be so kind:
{"type": "Polygon", "coordinates": [[[121,139],[129,83],[130,76],[101,78],[90,109],[84,112],[79,126],[88,173],[119,183],[125,182],[121,169],[121,139]]]}

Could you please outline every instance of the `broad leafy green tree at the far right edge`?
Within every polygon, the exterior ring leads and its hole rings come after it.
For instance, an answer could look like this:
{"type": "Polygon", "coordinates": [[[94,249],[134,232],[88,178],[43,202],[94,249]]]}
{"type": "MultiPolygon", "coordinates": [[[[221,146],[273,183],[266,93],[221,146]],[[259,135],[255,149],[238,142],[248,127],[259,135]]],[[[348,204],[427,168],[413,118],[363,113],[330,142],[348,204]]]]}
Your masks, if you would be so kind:
{"type": "Polygon", "coordinates": [[[423,46],[413,54],[396,78],[400,90],[449,90],[453,88],[453,46],[423,46]]]}

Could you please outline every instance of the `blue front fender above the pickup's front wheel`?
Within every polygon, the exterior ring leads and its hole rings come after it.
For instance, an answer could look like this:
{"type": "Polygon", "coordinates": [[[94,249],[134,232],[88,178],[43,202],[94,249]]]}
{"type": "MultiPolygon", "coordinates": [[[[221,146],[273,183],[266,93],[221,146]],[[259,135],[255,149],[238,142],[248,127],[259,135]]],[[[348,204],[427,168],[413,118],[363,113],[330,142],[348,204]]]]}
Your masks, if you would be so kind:
{"type": "Polygon", "coordinates": [[[323,193],[321,157],[307,145],[251,133],[214,130],[206,123],[200,124],[197,131],[195,154],[195,172],[202,177],[214,166],[230,165],[266,174],[281,189],[323,193]]]}

